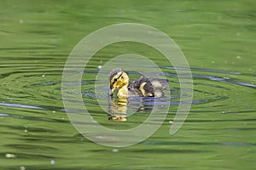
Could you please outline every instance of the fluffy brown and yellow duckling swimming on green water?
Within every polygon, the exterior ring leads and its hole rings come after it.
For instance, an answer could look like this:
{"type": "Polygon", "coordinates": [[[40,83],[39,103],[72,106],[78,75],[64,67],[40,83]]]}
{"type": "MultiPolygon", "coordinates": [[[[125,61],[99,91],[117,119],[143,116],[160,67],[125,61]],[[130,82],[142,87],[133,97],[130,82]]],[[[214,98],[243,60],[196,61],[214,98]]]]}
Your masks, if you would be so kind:
{"type": "Polygon", "coordinates": [[[118,98],[128,98],[130,96],[141,97],[162,97],[163,91],[169,86],[166,79],[141,77],[129,83],[128,74],[120,68],[113,69],[109,73],[110,96],[118,90],[118,98]]]}

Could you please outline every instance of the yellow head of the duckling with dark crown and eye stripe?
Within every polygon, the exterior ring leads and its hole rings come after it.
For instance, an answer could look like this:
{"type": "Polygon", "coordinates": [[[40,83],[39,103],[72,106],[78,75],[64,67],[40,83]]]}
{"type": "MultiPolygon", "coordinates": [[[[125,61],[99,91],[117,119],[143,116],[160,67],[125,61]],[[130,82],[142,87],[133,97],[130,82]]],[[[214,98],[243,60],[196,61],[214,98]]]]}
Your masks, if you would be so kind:
{"type": "MultiPolygon", "coordinates": [[[[127,90],[128,93],[128,84],[129,77],[128,74],[122,69],[113,69],[110,71],[109,75],[109,83],[110,83],[110,95],[113,96],[113,93],[116,90],[123,89],[123,92],[127,90]]],[[[122,92],[121,92],[122,93],[122,92]]]]}

